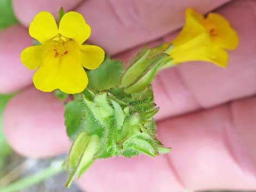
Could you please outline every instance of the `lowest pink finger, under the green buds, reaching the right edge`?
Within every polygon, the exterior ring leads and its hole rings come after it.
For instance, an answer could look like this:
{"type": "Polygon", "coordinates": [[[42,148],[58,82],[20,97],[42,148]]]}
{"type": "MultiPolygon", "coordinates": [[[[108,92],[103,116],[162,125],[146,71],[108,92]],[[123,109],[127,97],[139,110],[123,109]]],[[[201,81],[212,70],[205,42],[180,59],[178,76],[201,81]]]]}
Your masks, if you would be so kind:
{"type": "Polygon", "coordinates": [[[96,160],[78,184],[93,192],[255,190],[255,115],[256,97],[162,121],[168,156],[96,160]]]}

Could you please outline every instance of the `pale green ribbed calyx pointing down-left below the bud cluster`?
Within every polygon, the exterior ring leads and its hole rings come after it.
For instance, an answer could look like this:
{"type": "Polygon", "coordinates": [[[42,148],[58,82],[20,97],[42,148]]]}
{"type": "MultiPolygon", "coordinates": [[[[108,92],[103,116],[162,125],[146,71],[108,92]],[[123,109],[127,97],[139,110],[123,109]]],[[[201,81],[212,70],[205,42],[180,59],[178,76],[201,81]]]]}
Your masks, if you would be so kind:
{"type": "Polygon", "coordinates": [[[66,187],[70,187],[76,175],[80,177],[92,165],[99,143],[97,135],[89,136],[82,132],[77,136],[65,161],[66,170],[69,171],[66,187]]]}

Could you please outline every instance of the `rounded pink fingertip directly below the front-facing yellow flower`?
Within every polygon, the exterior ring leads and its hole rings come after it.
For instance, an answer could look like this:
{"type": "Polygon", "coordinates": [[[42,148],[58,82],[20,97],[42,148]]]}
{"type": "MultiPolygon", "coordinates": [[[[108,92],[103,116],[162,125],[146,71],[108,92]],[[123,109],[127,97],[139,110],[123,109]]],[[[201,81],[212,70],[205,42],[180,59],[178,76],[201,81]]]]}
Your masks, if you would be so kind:
{"type": "Polygon", "coordinates": [[[3,129],[14,150],[28,157],[68,151],[64,107],[53,94],[29,88],[13,97],[3,114],[3,129]]]}

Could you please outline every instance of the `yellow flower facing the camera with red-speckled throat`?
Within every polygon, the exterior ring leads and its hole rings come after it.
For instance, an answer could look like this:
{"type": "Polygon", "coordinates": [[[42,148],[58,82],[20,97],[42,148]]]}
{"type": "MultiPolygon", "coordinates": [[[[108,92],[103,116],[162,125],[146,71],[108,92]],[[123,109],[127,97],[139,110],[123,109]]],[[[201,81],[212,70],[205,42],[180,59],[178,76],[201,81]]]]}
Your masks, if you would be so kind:
{"type": "Polygon", "coordinates": [[[38,13],[29,26],[29,35],[41,45],[31,46],[21,53],[22,63],[36,70],[33,82],[45,92],[60,89],[68,94],[83,91],[88,77],[83,67],[96,69],[105,53],[94,45],[82,45],[90,36],[90,26],[74,11],[66,13],[59,27],[52,14],[38,13]]]}

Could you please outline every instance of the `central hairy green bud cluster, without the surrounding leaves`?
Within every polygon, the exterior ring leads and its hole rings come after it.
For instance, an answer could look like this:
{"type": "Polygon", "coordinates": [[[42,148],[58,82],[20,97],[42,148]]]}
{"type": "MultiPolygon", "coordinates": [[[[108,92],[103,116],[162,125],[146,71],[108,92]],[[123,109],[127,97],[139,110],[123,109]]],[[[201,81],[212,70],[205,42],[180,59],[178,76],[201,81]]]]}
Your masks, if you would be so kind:
{"type": "MultiPolygon", "coordinates": [[[[158,108],[152,93],[149,88],[141,98],[133,98],[129,94],[123,96],[124,92],[120,90],[100,94],[88,91],[86,95],[90,94],[94,100],[83,96],[87,114],[94,117],[100,129],[97,133],[102,145],[96,158],[131,157],[140,152],[153,157],[159,154],[157,146],[162,145],[155,138],[153,119],[158,108]]],[[[88,134],[95,134],[95,129],[89,126],[86,129],[88,134]]]]}

